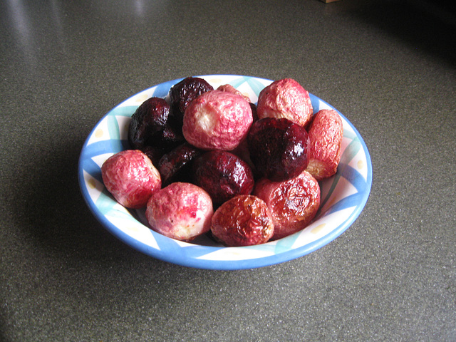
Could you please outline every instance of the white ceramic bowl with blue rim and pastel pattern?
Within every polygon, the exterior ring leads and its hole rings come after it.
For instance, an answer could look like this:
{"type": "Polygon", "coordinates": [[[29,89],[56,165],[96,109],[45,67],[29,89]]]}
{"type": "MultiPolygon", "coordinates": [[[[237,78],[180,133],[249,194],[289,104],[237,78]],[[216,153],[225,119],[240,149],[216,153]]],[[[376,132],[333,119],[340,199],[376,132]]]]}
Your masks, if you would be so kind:
{"type": "MultiPolygon", "coordinates": [[[[272,81],[238,75],[207,75],[214,88],[229,83],[256,103],[259,92],[272,81]]],[[[142,90],[100,119],[88,135],[78,163],[81,192],[90,211],[109,232],[140,252],[173,264],[199,269],[254,269],[303,257],[341,235],[366,205],[372,184],[372,163],[363,138],[341,115],[343,140],[336,175],[320,182],[321,205],[308,227],[288,237],[248,247],[224,247],[206,236],[192,242],[170,239],[147,227],[145,209],[126,209],[105,189],[100,167],[111,155],[128,148],[128,125],[136,108],[152,96],[166,98],[178,78],[142,90]]],[[[305,88],[305,87],[304,87],[305,88]]],[[[314,113],[334,109],[309,94],[314,113]]]]}

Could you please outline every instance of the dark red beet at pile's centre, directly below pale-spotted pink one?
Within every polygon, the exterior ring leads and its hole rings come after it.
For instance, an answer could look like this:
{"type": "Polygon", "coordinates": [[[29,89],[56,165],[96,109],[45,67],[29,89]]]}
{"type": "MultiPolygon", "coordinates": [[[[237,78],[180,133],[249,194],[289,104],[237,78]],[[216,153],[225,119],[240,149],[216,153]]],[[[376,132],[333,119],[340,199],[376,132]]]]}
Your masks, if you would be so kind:
{"type": "Polygon", "coordinates": [[[205,152],[193,164],[195,184],[206,190],[214,204],[236,195],[249,195],[254,187],[252,169],[237,155],[214,150],[205,152]]]}

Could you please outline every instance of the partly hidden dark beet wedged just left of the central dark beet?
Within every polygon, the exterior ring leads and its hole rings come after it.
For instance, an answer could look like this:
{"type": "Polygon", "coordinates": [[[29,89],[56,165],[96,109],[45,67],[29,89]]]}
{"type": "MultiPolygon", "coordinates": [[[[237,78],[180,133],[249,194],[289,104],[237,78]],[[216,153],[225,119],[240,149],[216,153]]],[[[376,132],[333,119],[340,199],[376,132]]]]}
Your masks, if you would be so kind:
{"type": "Polygon", "coordinates": [[[188,142],[184,142],[163,155],[158,163],[163,185],[177,181],[189,181],[191,179],[192,161],[201,153],[202,150],[190,145],[188,142]]]}

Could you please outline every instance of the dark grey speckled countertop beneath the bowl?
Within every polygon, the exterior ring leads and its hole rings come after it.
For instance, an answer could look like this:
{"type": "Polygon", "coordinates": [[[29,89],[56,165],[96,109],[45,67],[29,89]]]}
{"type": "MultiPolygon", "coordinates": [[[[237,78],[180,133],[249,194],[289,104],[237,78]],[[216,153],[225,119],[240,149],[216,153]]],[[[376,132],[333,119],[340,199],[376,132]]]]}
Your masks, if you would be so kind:
{"type": "Polygon", "coordinates": [[[0,4],[0,341],[456,341],[456,25],[419,1],[0,4]],[[210,271],[93,217],[81,147],[192,75],[294,78],[371,154],[361,215],[304,257],[210,271]]]}

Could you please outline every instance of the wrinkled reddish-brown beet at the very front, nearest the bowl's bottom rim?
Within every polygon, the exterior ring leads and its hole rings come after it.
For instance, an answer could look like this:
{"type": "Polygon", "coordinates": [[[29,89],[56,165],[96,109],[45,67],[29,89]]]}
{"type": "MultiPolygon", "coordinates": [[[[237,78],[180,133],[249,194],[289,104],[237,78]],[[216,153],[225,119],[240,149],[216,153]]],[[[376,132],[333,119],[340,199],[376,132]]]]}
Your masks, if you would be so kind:
{"type": "Polygon", "coordinates": [[[226,246],[264,244],[274,234],[266,203],[256,196],[239,195],[224,202],[212,216],[211,232],[226,246]]]}

